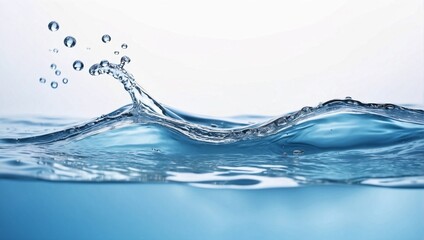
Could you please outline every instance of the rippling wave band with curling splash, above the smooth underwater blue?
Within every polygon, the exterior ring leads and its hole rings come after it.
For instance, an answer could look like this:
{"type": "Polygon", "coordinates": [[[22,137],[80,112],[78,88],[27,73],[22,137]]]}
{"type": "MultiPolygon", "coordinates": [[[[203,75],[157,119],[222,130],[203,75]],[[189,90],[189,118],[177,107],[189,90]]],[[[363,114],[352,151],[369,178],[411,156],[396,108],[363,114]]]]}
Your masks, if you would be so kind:
{"type": "Polygon", "coordinates": [[[424,187],[423,110],[347,97],[274,118],[202,118],[158,103],[125,69],[130,62],[102,60],[88,71],[118,80],[132,105],[71,127],[60,119],[2,119],[9,127],[0,132],[0,176],[210,188],[424,187]]]}

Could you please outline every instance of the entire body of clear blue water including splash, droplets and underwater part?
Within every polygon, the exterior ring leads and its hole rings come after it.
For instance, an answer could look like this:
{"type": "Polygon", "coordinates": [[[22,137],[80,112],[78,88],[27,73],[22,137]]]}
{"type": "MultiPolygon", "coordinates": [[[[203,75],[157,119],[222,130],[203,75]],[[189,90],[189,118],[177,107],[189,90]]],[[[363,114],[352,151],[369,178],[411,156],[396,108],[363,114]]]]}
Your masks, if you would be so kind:
{"type": "MultiPolygon", "coordinates": [[[[67,47],[76,44],[71,38],[67,47]]],[[[112,113],[84,122],[0,118],[2,237],[423,235],[423,110],[347,97],[275,117],[200,117],[158,103],[125,69],[130,62],[123,56],[88,69],[128,92],[132,103],[112,113]],[[128,182],[142,184],[112,184],[128,182]]],[[[86,70],[80,60],[73,68],[86,70]]]]}

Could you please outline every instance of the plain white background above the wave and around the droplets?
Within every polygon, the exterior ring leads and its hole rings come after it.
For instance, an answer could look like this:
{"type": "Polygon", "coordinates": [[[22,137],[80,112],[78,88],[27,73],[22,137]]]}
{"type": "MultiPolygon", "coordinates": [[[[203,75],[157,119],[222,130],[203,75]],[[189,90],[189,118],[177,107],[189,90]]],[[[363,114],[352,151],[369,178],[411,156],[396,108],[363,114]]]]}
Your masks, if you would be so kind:
{"type": "Polygon", "coordinates": [[[119,61],[123,42],[144,89],[186,112],[279,115],[346,96],[422,105],[423,17],[419,0],[0,0],[0,115],[96,117],[130,103],[116,80],[87,72],[119,61]],[[56,90],[53,62],[69,78],[56,90]]]}

